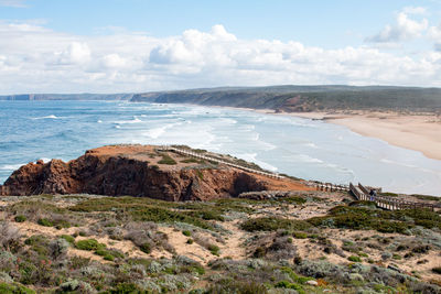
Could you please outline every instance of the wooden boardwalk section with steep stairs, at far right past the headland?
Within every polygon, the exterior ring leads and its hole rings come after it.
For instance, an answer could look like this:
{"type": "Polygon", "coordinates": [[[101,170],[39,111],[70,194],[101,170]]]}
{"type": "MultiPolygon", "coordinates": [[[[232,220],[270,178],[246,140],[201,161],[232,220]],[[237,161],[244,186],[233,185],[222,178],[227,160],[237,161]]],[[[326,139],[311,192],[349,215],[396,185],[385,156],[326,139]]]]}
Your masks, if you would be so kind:
{"type": "Polygon", "coordinates": [[[388,209],[388,210],[400,210],[400,209],[417,209],[417,208],[427,208],[434,210],[434,204],[428,203],[415,203],[415,202],[406,202],[401,199],[396,199],[392,197],[386,196],[373,196],[369,195],[369,190],[358,183],[357,186],[349,184],[349,190],[355,196],[357,200],[362,202],[374,202],[377,207],[388,209]]]}

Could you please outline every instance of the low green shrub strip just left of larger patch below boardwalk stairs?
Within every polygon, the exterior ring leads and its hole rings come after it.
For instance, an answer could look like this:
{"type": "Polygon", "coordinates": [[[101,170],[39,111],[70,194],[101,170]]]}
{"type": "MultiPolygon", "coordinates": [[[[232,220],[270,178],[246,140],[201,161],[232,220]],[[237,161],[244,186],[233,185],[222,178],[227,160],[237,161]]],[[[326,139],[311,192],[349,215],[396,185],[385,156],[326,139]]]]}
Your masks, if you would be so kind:
{"type": "Polygon", "coordinates": [[[276,231],[279,229],[306,230],[311,227],[311,225],[303,220],[260,217],[248,219],[244,221],[240,227],[246,231],[276,231]]]}

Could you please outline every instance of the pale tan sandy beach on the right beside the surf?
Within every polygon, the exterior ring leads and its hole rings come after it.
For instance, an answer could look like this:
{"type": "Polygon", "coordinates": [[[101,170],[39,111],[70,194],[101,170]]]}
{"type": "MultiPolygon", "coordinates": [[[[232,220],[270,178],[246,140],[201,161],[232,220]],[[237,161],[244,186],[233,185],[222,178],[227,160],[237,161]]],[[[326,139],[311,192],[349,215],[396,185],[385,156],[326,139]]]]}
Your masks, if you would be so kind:
{"type": "Polygon", "coordinates": [[[325,120],[345,126],[362,135],[378,138],[392,145],[420,151],[429,159],[441,160],[441,117],[439,116],[368,111],[282,115],[325,120]]]}

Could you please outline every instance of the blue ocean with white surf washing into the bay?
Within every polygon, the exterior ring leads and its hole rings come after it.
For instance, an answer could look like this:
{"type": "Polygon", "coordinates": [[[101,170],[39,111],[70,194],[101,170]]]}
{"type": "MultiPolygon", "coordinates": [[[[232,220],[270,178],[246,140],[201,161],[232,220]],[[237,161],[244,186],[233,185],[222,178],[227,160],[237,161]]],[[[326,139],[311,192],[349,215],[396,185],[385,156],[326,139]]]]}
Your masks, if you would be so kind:
{"type": "Polygon", "coordinates": [[[0,183],[104,144],[187,144],[305,179],[440,196],[441,161],[309,119],[189,105],[0,101],[0,183]]]}

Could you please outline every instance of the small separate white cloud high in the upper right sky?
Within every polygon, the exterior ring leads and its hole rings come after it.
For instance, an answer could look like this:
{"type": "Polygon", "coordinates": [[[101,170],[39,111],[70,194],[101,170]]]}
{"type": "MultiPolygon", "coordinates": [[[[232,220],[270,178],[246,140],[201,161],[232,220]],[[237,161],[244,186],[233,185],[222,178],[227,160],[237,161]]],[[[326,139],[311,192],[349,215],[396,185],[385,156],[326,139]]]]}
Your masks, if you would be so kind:
{"type": "Polygon", "coordinates": [[[419,37],[428,29],[429,22],[427,19],[412,20],[409,15],[424,14],[424,8],[405,8],[398,13],[396,24],[386,25],[378,34],[367,37],[367,42],[373,43],[394,43],[419,37]]]}

